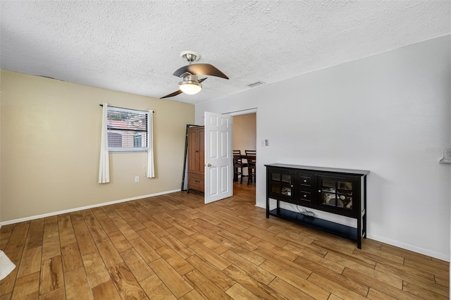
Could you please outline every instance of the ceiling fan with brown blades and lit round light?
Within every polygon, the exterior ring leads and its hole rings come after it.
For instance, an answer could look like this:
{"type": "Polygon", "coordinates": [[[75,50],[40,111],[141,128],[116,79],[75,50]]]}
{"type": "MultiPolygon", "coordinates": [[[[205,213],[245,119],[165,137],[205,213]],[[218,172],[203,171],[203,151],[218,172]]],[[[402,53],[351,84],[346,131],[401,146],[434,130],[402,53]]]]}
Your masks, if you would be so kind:
{"type": "Polygon", "coordinates": [[[214,65],[210,65],[209,63],[193,64],[193,61],[198,61],[200,58],[200,54],[197,52],[183,51],[180,53],[180,56],[186,59],[189,65],[185,65],[184,67],[175,70],[173,74],[177,77],[183,78],[183,80],[178,83],[179,90],[166,96],[162,96],[160,99],[177,96],[182,93],[190,95],[197,94],[202,89],[201,82],[206,80],[206,77],[199,79],[197,75],[211,75],[228,79],[227,75],[222,73],[221,70],[218,70],[218,68],[214,65]]]}

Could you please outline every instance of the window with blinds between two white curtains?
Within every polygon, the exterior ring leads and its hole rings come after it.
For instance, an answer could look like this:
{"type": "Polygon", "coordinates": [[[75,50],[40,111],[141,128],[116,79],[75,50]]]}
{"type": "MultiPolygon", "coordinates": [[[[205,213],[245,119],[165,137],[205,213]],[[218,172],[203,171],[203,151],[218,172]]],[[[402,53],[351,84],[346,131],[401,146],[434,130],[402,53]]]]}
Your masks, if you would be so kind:
{"type": "Polygon", "coordinates": [[[110,152],[149,151],[149,111],[108,106],[106,132],[110,152]]]}

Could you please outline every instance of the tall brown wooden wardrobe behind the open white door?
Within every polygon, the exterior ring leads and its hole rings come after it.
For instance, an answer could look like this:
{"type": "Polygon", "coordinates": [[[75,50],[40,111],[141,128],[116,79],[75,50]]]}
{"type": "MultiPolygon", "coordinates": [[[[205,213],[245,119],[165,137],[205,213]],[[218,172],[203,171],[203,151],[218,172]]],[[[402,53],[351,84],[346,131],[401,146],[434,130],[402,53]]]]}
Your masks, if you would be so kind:
{"type": "Polygon", "coordinates": [[[188,141],[188,185],[187,189],[204,192],[204,126],[190,127],[188,141]]]}

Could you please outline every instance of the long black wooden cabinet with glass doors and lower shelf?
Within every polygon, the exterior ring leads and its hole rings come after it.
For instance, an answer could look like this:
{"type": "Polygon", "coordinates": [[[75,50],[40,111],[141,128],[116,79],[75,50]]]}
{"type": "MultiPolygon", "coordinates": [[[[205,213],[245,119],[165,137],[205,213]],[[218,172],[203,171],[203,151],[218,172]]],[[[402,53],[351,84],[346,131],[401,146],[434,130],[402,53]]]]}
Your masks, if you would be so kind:
{"type": "Polygon", "coordinates": [[[321,168],[305,165],[266,165],[266,218],[274,215],[357,242],[366,237],[366,175],[368,170],[321,168]],[[276,208],[270,209],[270,199],[276,208]],[[280,202],[303,206],[295,212],[280,202]],[[307,208],[327,211],[357,220],[357,227],[331,222],[307,208]]]}

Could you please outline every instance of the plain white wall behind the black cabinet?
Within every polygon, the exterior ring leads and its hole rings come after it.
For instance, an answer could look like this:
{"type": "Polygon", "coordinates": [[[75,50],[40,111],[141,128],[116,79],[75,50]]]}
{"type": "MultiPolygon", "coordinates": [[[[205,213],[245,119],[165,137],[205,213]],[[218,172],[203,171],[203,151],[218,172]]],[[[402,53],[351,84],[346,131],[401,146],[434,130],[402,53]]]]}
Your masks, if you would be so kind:
{"type": "Polygon", "coordinates": [[[449,261],[451,164],[438,161],[451,146],[450,44],[431,39],[198,104],[196,122],[257,108],[257,206],[267,163],[371,170],[368,237],[449,261]]]}

